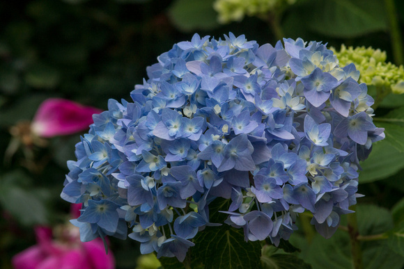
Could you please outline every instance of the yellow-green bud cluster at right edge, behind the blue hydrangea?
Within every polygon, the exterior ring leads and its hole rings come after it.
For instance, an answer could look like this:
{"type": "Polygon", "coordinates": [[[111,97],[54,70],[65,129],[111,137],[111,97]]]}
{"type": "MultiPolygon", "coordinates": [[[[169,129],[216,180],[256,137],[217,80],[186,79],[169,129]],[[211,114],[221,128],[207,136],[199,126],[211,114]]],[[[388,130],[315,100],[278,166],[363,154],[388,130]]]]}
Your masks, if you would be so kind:
{"type": "Polygon", "coordinates": [[[340,51],[331,48],[339,59],[340,67],[354,63],[361,73],[359,82],[367,85],[375,85],[385,89],[391,88],[396,95],[404,93],[404,68],[386,63],[386,51],[373,49],[372,47],[345,47],[340,51]]]}

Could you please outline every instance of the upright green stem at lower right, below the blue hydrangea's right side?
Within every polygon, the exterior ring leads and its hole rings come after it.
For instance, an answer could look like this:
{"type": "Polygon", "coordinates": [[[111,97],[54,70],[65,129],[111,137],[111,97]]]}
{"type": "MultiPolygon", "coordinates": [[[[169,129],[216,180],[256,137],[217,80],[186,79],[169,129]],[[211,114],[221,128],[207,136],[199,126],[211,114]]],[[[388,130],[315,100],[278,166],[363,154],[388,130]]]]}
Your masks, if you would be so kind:
{"type": "MultiPolygon", "coordinates": [[[[351,210],[356,211],[356,206],[351,206],[351,210]]],[[[355,269],[363,269],[364,264],[362,263],[362,250],[358,240],[359,231],[356,213],[348,214],[348,233],[350,237],[353,267],[355,269]]]]}

